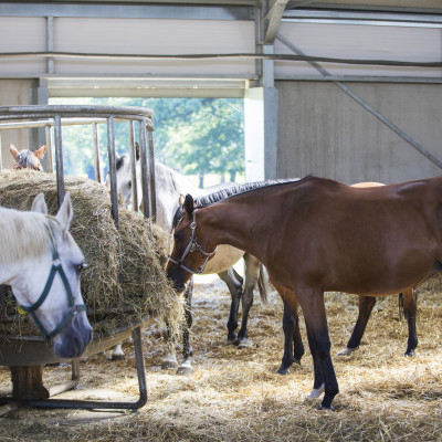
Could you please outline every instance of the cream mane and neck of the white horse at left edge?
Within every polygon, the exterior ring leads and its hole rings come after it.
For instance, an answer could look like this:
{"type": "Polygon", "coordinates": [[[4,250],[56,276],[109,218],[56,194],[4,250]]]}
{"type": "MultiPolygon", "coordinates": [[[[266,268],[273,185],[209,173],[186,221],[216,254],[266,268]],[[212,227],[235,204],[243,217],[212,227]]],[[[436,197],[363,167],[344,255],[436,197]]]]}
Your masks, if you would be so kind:
{"type": "Polygon", "coordinates": [[[0,207],[0,264],[40,256],[50,248],[49,223],[56,224],[38,212],[22,212],[0,207]]]}

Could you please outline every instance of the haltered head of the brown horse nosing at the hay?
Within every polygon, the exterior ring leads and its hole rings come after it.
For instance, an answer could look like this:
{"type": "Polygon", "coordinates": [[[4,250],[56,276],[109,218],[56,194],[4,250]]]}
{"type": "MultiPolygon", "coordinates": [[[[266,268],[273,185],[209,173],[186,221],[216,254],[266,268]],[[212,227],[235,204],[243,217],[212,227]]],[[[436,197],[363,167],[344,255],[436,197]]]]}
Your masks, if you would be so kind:
{"type": "Polygon", "coordinates": [[[167,277],[179,292],[185,290],[185,284],[192,274],[203,273],[206,264],[217,252],[217,248],[210,251],[208,235],[201,225],[197,224],[197,212],[200,213],[200,210],[194,208],[193,198],[187,194],[182,204],[182,215],[173,231],[173,251],[166,267],[167,277]]]}

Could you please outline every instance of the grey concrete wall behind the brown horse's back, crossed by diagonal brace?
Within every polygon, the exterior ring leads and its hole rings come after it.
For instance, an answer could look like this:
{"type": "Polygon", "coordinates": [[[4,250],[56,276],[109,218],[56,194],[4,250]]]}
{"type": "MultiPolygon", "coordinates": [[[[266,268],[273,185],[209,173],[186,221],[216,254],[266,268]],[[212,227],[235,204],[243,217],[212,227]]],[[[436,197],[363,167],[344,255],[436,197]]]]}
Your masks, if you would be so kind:
{"type": "MultiPolygon", "coordinates": [[[[442,85],[346,85],[442,160],[442,85]]],[[[334,83],[278,81],[276,87],[280,177],[391,183],[442,173],[334,83]]]]}

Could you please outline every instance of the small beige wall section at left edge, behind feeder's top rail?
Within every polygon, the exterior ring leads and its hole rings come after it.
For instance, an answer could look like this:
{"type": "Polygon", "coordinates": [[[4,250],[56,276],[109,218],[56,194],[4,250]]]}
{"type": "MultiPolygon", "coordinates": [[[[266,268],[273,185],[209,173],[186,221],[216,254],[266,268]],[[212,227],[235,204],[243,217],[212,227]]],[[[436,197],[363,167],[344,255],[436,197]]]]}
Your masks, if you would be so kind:
{"type": "MultiPolygon", "coordinates": [[[[15,106],[29,104],[29,91],[34,85],[33,80],[0,80],[0,106],[15,106]]],[[[11,168],[13,159],[9,151],[9,144],[18,149],[29,148],[29,130],[0,130],[2,167],[11,168]]],[[[32,146],[35,148],[38,146],[32,146]]]]}

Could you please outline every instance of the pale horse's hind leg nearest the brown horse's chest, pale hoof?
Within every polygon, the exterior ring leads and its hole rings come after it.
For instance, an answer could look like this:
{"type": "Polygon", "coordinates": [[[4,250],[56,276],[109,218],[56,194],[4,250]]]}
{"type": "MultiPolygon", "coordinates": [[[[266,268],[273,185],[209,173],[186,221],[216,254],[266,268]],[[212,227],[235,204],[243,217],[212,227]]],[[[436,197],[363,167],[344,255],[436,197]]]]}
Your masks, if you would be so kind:
{"type": "Polygon", "coordinates": [[[245,284],[244,293],[242,294],[242,322],[240,332],[238,333],[239,348],[248,348],[252,346],[252,341],[249,339],[248,335],[248,320],[249,313],[253,304],[253,291],[260,276],[261,266],[260,261],[249,253],[244,254],[244,263],[245,284]]]}

